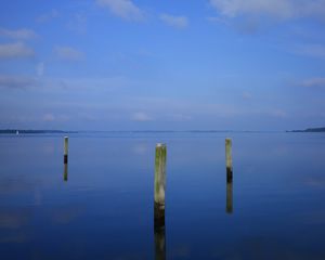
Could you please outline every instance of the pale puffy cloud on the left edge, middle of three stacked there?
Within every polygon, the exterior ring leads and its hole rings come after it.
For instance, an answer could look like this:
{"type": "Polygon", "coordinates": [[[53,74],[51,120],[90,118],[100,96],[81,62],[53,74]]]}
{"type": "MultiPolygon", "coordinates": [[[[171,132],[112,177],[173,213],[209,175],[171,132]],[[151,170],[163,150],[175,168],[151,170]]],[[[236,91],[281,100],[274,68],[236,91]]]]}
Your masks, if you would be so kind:
{"type": "Polygon", "coordinates": [[[0,44],[0,58],[30,57],[34,50],[23,42],[0,44]]]}

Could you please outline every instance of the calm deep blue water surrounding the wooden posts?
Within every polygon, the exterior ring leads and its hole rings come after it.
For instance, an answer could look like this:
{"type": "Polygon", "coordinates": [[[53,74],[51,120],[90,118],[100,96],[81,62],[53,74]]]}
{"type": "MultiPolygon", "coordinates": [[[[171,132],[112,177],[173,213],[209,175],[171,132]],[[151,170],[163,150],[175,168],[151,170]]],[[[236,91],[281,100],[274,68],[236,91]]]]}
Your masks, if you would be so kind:
{"type": "Polygon", "coordinates": [[[0,259],[164,258],[157,142],[168,151],[166,259],[325,259],[324,133],[70,134],[67,181],[62,135],[1,135],[0,259]]]}

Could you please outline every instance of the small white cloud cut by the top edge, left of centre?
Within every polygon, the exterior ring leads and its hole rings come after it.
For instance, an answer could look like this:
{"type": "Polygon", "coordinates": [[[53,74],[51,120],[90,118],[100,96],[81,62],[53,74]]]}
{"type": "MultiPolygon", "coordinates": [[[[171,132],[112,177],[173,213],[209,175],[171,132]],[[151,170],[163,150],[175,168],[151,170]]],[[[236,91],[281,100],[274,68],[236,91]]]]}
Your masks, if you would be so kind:
{"type": "Polygon", "coordinates": [[[96,0],[102,8],[107,8],[110,13],[128,21],[142,21],[144,13],[131,0],[96,0]]]}

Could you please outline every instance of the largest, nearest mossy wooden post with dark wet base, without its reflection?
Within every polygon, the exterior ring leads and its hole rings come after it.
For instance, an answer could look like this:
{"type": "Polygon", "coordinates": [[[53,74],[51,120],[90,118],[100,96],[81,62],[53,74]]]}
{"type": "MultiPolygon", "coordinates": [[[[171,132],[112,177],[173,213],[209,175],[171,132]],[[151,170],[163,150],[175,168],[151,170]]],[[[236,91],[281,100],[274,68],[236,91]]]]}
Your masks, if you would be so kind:
{"type": "Polygon", "coordinates": [[[155,226],[165,226],[166,144],[156,145],[155,157],[155,226]]]}

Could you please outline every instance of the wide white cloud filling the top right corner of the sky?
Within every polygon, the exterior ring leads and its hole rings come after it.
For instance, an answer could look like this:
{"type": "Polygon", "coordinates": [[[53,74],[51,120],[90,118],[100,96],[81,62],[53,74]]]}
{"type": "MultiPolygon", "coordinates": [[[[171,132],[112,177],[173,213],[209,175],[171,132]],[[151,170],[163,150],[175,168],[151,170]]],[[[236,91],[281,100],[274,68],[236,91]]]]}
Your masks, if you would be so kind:
{"type": "Polygon", "coordinates": [[[268,15],[274,18],[325,16],[325,0],[210,0],[223,16],[268,15]]]}

